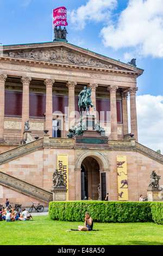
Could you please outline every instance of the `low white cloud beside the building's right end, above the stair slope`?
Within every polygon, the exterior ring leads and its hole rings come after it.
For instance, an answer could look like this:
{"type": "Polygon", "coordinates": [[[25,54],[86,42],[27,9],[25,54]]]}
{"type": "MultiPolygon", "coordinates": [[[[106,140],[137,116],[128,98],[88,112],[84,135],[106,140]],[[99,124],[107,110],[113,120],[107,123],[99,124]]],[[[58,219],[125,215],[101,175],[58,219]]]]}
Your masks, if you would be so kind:
{"type": "Polygon", "coordinates": [[[136,109],[138,142],[163,154],[163,96],[136,96],[136,109]]]}

